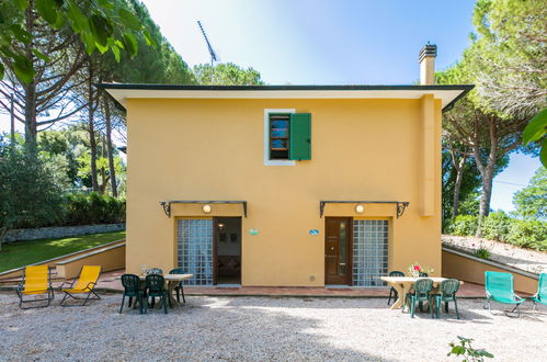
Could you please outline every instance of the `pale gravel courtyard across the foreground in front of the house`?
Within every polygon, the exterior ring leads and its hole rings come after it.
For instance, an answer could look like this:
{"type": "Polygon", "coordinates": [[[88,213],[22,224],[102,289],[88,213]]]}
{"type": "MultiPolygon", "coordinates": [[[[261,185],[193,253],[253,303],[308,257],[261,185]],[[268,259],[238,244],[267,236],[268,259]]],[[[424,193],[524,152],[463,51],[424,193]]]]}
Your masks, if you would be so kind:
{"type": "Polygon", "coordinates": [[[545,361],[547,308],[492,316],[460,299],[463,319],[414,319],[384,298],[189,297],[169,315],[117,313],[119,295],[86,307],[20,310],[0,293],[0,360],[374,360],[456,361],[456,336],[474,338],[495,361],[545,361]]]}

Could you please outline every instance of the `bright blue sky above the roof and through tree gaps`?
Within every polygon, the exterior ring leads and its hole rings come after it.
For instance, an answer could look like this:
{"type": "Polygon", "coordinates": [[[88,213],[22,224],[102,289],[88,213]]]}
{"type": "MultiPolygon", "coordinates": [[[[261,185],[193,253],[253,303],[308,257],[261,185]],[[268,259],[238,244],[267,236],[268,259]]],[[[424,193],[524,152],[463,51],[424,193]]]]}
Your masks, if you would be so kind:
{"type": "MultiPolygon", "coordinates": [[[[436,68],[469,44],[475,0],[145,0],[190,65],[208,63],[201,20],[223,63],[253,67],[270,84],[410,84],[418,54],[438,47],[436,68]]],[[[0,132],[9,118],[0,115],[0,132]]],[[[538,159],[513,155],[494,181],[492,208],[512,210],[538,159]]]]}

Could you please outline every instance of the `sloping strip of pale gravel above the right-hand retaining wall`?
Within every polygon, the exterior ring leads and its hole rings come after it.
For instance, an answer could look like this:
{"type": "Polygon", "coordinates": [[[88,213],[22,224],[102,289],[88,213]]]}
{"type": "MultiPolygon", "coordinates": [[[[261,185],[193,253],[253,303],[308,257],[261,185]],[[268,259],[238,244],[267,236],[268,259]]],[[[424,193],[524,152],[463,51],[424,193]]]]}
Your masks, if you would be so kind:
{"type": "Polygon", "coordinates": [[[510,244],[470,236],[443,235],[443,244],[474,252],[478,248],[490,251],[490,259],[532,273],[547,273],[547,252],[523,249],[510,244]]]}

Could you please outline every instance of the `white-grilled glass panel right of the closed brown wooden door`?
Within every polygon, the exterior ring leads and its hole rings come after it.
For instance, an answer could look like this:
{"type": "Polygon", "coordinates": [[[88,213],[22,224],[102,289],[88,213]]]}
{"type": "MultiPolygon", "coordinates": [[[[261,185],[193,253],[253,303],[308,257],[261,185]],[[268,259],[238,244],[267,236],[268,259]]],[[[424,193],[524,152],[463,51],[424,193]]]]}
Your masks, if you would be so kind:
{"type": "Polygon", "coordinates": [[[353,285],[384,286],[388,269],[388,220],[353,220],[353,285]]]}

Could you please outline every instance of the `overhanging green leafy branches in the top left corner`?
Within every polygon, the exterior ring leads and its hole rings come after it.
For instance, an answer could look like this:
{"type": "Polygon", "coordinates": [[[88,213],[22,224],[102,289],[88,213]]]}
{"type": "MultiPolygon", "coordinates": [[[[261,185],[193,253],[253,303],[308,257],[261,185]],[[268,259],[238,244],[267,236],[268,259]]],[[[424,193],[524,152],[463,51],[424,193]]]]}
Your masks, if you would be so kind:
{"type": "MultiPolygon", "coordinates": [[[[59,31],[60,35],[77,34],[88,55],[93,54],[95,49],[101,54],[110,49],[116,59],[119,59],[119,54],[124,50],[133,57],[138,52],[134,34],[144,42],[146,39],[146,45],[156,46],[146,25],[140,25],[139,19],[122,0],[35,0],[19,1],[19,3],[0,1],[0,14],[7,15],[2,16],[0,22],[0,55],[2,56],[0,76],[3,76],[3,66],[8,65],[12,67],[19,80],[26,84],[34,79],[36,69],[34,69],[32,57],[22,48],[29,44],[34,47],[39,41],[23,29],[25,16],[29,14],[32,14],[42,27],[59,31]]],[[[34,48],[32,50],[35,56],[47,58],[39,50],[34,48]]]]}

